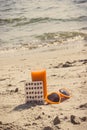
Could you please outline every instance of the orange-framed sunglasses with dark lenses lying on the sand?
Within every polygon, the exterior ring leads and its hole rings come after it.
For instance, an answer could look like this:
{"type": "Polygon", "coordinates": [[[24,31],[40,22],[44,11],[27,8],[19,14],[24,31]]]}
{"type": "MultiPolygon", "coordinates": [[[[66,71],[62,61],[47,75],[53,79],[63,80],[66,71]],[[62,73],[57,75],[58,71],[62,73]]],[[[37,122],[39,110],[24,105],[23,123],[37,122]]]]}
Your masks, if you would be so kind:
{"type": "Polygon", "coordinates": [[[71,97],[71,94],[68,89],[62,88],[59,89],[58,92],[52,92],[46,96],[47,103],[50,104],[59,104],[60,102],[64,101],[71,97]]]}

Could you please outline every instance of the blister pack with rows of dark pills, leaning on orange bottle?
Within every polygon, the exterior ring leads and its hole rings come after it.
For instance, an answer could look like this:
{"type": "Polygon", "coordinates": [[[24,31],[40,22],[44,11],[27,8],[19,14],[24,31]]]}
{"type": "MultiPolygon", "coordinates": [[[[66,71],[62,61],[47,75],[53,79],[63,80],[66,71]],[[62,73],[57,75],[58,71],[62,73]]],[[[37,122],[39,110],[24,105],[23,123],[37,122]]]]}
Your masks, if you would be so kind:
{"type": "Polygon", "coordinates": [[[43,92],[43,81],[32,81],[25,83],[25,94],[26,94],[26,103],[35,102],[43,103],[44,102],[44,92],[43,92]]]}

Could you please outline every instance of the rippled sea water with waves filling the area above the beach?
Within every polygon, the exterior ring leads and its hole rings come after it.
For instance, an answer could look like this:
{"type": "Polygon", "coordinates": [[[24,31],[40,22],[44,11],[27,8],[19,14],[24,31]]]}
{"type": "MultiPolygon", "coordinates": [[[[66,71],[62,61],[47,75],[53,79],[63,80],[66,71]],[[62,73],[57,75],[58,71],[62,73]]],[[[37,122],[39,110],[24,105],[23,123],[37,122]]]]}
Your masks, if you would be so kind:
{"type": "Polygon", "coordinates": [[[87,40],[87,0],[0,0],[0,49],[87,40]]]}

